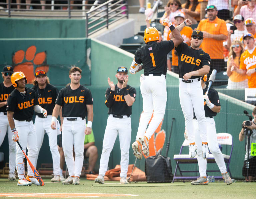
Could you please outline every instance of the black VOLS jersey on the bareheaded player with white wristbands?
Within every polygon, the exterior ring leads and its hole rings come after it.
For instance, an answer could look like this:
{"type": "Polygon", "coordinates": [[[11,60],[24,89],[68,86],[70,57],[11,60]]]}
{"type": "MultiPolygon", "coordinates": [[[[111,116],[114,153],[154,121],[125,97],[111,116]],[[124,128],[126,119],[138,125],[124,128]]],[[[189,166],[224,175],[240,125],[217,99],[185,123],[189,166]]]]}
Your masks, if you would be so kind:
{"type": "Polygon", "coordinates": [[[88,114],[86,105],[93,104],[93,98],[88,88],[80,85],[72,90],[69,85],[60,90],[55,104],[62,106],[63,117],[85,118],[88,114]]]}

